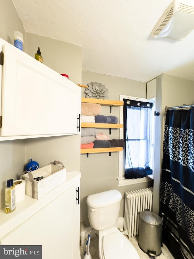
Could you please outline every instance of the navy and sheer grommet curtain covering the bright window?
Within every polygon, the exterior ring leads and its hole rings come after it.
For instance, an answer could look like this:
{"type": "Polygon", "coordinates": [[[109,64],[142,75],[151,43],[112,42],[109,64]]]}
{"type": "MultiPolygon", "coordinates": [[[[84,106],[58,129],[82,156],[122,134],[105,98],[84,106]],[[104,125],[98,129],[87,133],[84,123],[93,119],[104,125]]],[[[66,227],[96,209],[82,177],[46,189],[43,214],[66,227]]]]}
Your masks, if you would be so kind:
{"type": "Polygon", "coordinates": [[[129,99],[123,101],[125,178],[142,178],[152,174],[152,103],[129,99]]]}

